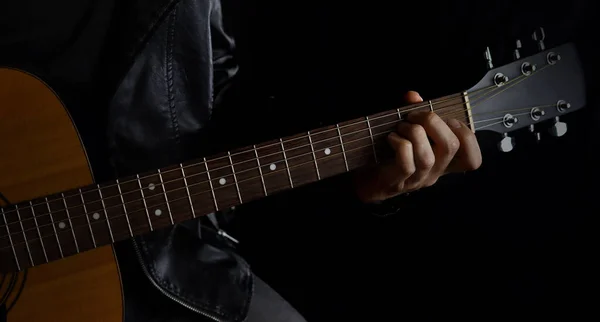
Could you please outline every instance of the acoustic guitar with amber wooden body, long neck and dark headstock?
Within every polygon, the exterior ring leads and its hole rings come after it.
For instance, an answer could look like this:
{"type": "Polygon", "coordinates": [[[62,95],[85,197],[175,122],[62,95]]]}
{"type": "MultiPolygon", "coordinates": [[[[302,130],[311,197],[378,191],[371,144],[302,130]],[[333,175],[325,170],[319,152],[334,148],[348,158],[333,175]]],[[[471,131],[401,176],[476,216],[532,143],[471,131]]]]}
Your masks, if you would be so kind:
{"type": "Polygon", "coordinates": [[[564,135],[560,117],[585,105],[575,46],[495,69],[487,56],[489,71],[464,92],[102,183],[52,89],[0,69],[0,320],[121,321],[114,242],[382,162],[410,111],[497,132],[505,152],[513,131],[541,135],[537,123],[564,135]]]}

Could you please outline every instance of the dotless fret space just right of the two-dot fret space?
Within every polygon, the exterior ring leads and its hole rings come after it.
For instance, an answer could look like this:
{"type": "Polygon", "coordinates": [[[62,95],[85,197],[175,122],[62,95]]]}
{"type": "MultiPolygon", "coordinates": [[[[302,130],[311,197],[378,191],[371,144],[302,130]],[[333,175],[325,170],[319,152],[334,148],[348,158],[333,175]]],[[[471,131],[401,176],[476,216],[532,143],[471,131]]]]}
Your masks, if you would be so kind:
{"type": "Polygon", "coordinates": [[[193,204],[179,164],[161,169],[164,190],[167,195],[173,220],[181,222],[194,218],[193,204]]]}

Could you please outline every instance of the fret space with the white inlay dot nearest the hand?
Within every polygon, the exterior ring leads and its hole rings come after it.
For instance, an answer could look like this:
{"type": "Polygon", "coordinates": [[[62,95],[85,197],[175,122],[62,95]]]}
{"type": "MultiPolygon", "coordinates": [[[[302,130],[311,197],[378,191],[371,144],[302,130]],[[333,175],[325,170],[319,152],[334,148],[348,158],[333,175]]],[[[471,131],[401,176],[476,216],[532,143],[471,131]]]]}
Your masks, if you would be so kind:
{"type": "Polygon", "coordinates": [[[348,171],[342,137],[339,126],[328,126],[311,134],[315,160],[319,166],[321,178],[329,178],[348,171]]]}

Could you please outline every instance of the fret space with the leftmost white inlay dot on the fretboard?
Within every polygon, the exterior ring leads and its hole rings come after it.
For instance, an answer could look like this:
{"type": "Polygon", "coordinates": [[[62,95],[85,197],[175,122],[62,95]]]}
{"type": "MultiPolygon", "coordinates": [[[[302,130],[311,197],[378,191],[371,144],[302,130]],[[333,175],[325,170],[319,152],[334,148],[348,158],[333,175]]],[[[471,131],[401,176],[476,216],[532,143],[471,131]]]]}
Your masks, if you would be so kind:
{"type": "Polygon", "coordinates": [[[57,231],[63,254],[65,256],[78,254],[79,246],[75,240],[75,234],[69,223],[69,216],[67,216],[64,199],[61,195],[48,198],[48,208],[52,215],[52,225],[57,231]]]}

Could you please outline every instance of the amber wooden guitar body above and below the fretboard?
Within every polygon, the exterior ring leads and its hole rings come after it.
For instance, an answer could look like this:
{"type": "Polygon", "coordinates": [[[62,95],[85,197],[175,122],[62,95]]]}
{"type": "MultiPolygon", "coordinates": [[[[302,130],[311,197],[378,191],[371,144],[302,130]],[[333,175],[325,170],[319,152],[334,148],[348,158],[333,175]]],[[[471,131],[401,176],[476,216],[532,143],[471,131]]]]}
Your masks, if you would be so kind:
{"type": "MultiPolygon", "coordinates": [[[[0,102],[1,206],[93,183],[77,130],[48,86],[22,71],[0,69],[0,102]]],[[[111,246],[0,274],[0,305],[10,309],[9,322],[122,320],[111,246]]]]}

